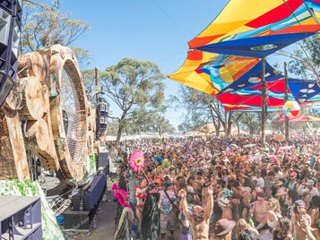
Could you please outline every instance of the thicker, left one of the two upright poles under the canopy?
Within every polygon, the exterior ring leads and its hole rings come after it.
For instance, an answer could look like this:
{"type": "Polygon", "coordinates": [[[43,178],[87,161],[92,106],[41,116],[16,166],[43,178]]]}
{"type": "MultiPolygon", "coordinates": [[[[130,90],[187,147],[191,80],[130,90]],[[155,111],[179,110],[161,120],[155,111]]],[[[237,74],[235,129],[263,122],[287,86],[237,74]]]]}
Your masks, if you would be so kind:
{"type": "Polygon", "coordinates": [[[265,102],[265,78],[264,78],[264,72],[265,72],[265,59],[264,57],[261,58],[261,98],[262,98],[262,103],[261,103],[261,143],[264,148],[264,143],[265,143],[265,110],[266,110],[266,102],[265,102]]]}

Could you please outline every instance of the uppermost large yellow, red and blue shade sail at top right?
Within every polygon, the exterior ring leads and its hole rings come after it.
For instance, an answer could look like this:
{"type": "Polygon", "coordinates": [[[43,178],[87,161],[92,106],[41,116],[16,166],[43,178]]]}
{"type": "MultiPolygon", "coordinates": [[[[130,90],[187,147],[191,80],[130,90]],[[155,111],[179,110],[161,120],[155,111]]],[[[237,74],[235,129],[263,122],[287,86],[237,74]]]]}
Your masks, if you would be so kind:
{"type": "Polygon", "coordinates": [[[303,0],[230,0],[188,45],[224,55],[269,56],[320,30],[310,5],[316,7],[316,1],[308,5],[303,0]]]}

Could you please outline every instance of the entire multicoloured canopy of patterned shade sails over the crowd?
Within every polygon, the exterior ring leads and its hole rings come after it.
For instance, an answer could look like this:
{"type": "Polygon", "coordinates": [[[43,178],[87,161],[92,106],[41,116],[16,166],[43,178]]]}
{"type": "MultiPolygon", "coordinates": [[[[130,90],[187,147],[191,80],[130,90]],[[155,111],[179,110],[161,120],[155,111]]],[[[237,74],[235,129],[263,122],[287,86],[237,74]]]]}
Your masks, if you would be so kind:
{"type": "MultiPolygon", "coordinates": [[[[320,0],[229,0],[188,42],[185,63],[170,79],[217,98],[225,110],[260,109],[260,58],[320,30],[320,0]]],[[[265,64],[267,106],[284,104],[284,76],[265,64]]],[[[289,79],[289,99],[309,106],[320,99],[316,81],[289,79]]]]}

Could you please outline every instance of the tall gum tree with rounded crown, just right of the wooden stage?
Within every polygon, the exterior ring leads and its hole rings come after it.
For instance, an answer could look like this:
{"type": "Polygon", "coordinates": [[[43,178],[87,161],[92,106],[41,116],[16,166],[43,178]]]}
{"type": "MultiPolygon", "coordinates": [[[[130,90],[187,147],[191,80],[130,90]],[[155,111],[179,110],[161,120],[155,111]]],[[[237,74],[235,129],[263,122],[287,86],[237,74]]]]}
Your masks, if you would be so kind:
{"type": "MultiPolygon", "coordinates": [[[[157,64],[132,58],[123,58],[118,64],[111,65],[100,73],[103,91],[120,112],[118,116],[110,116],[119,123],[117,143],[125,127],[136,118],[138,109],[150,112],[163,106],[164,79],[166,75],[160,73],[157,64]]],[[[140,117],[143,118],[143,115],[140,117]]]]}

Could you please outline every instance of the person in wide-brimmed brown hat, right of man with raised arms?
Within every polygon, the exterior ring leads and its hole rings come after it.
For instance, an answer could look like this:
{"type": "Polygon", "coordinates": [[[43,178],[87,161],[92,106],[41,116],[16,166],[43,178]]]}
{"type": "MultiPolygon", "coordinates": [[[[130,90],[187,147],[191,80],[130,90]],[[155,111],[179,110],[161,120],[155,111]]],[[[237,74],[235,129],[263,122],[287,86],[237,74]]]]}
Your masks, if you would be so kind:
{"type": "Polygon", "coordinates": [[[231,240],[232,229],[236,226],[236,221],[220,219],[213,228],[210,240],[231,240]]]}

